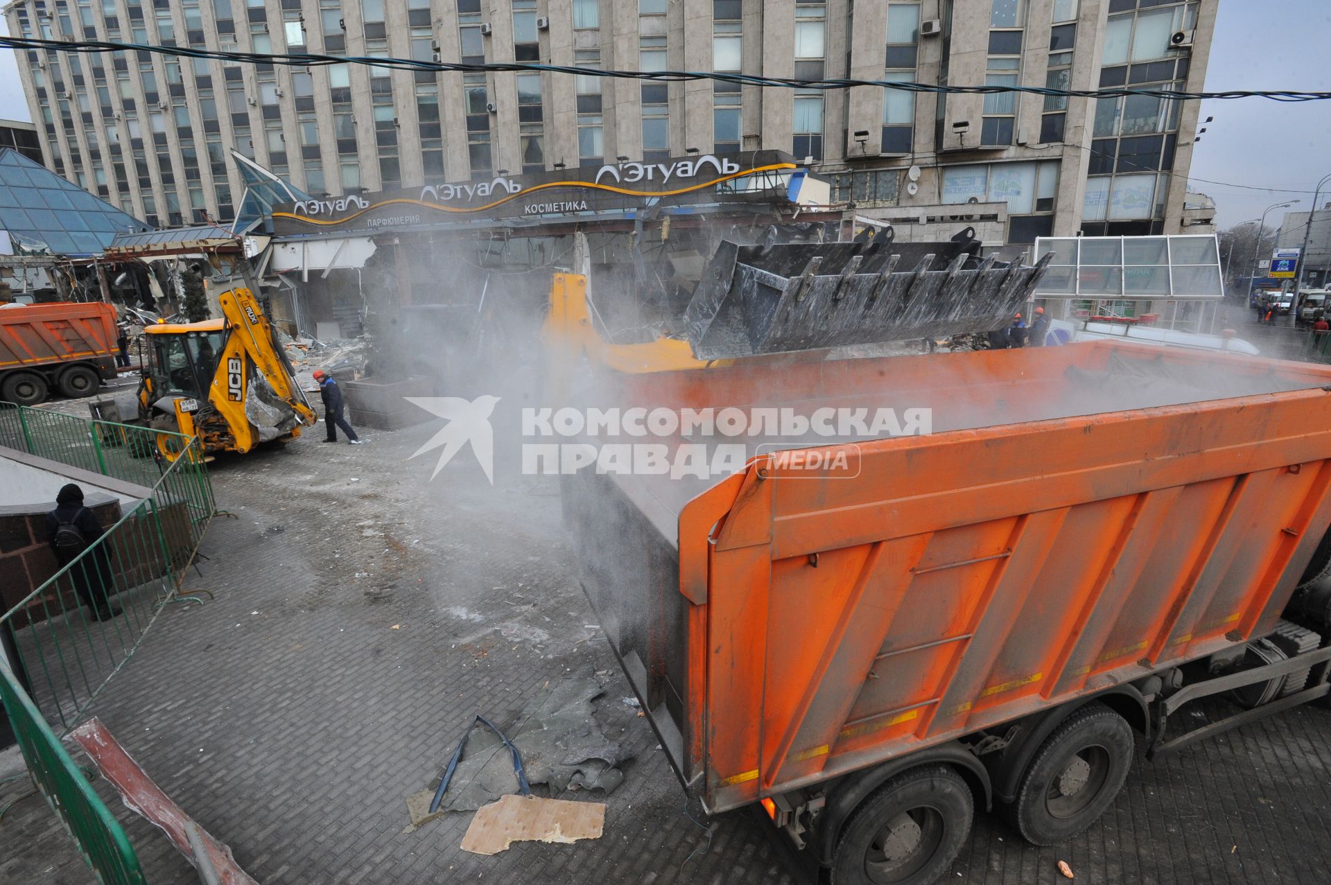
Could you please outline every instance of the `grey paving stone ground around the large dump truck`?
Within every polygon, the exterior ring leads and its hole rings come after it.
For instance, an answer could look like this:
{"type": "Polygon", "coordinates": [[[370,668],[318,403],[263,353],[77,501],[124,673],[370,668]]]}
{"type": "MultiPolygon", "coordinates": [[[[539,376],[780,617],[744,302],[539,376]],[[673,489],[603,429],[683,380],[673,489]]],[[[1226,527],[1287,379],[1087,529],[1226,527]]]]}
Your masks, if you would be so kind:
{"type": "MultiPolygon", "coordinates": [[[[741,882],[816,880],[761,814],[712,821],[684,793],[572,578],[556,484],[466,454],[427,482],[406,460],[438,423],[319,435],[213,464],[218,519],[186,588],[93,713],[265,885],[284,882],[741,882]],[[636,756],[607,801],[606,832],[572,845],[458,848],[470,814],[413,833],[405,797],[426,787],[476,712],[500,724],[591,663],[598,719],[636,756]]],[[[1205,712],[1205,711],[1203,711],[1205,712]]],[[[1186,716],[1186,713],[1185,713],[1186,716]]],[[[1300,708],[1154,763],[1138,760],[1114,808],[1054,849],[978,814],[948,881],[1324,882],[1331,868],[1331,715],[1300,708]]],[[[0,805],[23,784],[0,787],[0,805]]],[[[197,881],[154,828],[97,781],[148,881],[197,881]]],[[[92,876],[40,798],[0,820],[0,882],[92,876]]]]}

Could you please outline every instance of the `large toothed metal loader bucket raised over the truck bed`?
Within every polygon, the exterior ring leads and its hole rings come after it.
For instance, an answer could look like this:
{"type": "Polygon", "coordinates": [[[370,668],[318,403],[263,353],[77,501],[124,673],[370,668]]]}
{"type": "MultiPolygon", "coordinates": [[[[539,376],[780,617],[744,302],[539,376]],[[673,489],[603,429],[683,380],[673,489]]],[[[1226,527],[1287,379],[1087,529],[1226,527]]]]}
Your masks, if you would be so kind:
{"type": "Polygon", "coordinates": [[[946,242],[741,246],[723,241],[684,313],[699,359],[728,359],[1000,329],[1049,264],[980,257],[968,228],[946,242]]]}

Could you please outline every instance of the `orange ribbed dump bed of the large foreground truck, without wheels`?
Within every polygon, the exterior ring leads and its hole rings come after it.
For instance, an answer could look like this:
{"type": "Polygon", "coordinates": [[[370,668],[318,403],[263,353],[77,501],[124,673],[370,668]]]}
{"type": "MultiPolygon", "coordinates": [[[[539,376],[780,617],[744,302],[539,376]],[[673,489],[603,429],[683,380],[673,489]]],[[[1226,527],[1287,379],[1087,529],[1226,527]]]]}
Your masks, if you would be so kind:
{"type": "Polygon", "coordinates": [[[620,406],[928,407],[933,433],[748,437],[858,470],[584,470],[564,506],[664,749],[724,810],[1270,632],[1331,523],[1328,390],[1117,342],[622,377],[620,406]]]}

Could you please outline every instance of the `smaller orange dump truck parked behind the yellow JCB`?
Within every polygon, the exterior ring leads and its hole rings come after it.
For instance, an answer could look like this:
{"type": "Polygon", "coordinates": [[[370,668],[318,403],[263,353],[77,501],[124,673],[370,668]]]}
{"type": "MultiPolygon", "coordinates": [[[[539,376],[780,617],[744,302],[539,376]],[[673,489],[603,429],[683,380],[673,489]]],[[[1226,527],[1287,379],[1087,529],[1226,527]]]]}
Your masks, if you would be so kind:
{"type": "Polygon", "coordinates": [[[0,401],[91,397],[116,377],[116,309],[100,301],[0,309],[0,401]]]}

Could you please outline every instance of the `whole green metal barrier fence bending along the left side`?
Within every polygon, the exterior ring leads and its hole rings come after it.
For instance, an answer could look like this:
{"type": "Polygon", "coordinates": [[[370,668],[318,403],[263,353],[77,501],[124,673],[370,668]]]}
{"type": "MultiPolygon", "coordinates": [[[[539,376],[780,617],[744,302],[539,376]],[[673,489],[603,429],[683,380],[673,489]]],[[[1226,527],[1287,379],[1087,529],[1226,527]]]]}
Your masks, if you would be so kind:
{"type": "Polygon", "coordinates": [[[56,732],[75,728],[162,607],[180,599],[216,511],[204,452],[193,437],[11,403],[0,403],[0,446],[145,487],[0,615],[0,699],[28,771],[102,882],[142,882],[133,848],[56,732]]]}

